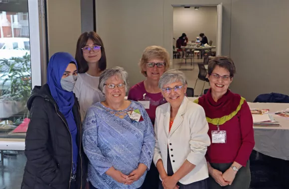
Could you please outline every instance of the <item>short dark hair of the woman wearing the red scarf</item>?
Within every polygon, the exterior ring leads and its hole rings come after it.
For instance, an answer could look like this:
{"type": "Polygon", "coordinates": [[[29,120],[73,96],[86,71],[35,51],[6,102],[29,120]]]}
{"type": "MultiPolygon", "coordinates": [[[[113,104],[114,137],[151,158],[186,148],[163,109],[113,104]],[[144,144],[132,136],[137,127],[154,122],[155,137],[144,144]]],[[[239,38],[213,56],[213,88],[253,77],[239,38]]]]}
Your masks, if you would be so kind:
{"type": "Polygon", "coordinates": [[[233,62],[233,60],[226,56],[217,56],[210,60],[208,65],[208,75],[212,75],[212,72],[214,71],[216,66],[220,66],[221,68],[225,68],[230,72],[230,76],[234,77],[234,74],[236,73],[236,67],[233,62]]]}

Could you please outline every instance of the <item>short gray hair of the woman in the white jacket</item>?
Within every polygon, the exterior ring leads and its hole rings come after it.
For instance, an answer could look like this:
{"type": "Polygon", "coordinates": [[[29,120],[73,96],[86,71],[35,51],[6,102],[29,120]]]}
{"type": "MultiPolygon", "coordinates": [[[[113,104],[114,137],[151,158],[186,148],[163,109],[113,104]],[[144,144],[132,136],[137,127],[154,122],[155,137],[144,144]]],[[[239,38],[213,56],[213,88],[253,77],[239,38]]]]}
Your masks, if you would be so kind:
{"type": "Polygon", "coordinates": [[[163,86],[175,82],[181,82],[183,85],[186,85],[187,81],[185,74],[178,70],[168,70],[159,78],[158,88],[161,89],[163,86]]]}

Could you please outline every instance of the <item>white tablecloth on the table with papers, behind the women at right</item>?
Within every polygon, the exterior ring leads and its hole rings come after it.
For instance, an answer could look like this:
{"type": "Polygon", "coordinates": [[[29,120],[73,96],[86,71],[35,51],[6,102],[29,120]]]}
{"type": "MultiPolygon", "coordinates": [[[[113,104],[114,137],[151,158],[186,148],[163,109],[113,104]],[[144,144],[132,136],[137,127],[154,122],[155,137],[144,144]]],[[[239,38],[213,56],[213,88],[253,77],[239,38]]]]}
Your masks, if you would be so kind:
{"type": "MultiPolygon", "coordinates": [[[[191,101],[197,97],[189,97],[191,101]]],[[[270,113],[289,108],[289,103],[252,103],[248,102],[251,109],[270,109],[270,113]]],[[[289,160],[289,118],[274,114],[280,126],[254,126],[254,150],[283,160],[289,160]]]]}

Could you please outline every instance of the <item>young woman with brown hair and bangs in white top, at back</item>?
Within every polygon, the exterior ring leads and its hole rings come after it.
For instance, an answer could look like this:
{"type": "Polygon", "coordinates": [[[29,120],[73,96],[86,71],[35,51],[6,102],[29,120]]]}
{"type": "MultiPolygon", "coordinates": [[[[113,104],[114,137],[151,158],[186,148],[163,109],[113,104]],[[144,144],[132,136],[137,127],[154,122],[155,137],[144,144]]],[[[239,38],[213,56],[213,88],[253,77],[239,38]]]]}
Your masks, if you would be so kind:
{"type": "Polygon", "coordinates": [[[94,32],[84,32],[76,45],[75,60],[78,65],[78,79],[73,92],[80,104],[81,122],[87,109],[105,99],[99,91],[99,76],[106,69],[105,48],[100,36],[94,32]]]}

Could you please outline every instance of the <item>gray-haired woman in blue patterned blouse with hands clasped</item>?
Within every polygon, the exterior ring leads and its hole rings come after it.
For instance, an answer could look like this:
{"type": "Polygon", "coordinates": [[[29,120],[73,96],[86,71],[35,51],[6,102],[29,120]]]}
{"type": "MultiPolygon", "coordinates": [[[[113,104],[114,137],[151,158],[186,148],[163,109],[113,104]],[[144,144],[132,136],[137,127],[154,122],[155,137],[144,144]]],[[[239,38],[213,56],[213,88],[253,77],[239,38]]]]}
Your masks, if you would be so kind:
{"type": "Polygon", "coordinates": [[[90,189],[139,189],[152,161],[153,127],[140,102],[125,100],[127,75],[120,67],[101,74],[106,100],[92,105],[83,122],[90,189]]]}

